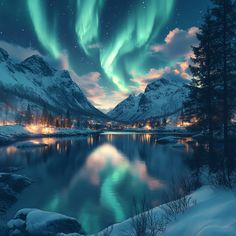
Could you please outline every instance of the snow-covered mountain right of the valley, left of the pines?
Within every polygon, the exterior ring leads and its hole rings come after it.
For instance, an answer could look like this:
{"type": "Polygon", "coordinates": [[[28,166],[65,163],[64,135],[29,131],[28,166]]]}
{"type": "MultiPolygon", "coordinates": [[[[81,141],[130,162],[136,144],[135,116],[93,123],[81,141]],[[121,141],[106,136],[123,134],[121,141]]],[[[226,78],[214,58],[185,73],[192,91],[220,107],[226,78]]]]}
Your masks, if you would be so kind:
{"type": "Polygon", "coordinates": [[[130,122],[167,117],[181,110],[187,95],[184,79],[156,79],[144,93],[130,95],[108,115],[115,120],[130,122]]]}

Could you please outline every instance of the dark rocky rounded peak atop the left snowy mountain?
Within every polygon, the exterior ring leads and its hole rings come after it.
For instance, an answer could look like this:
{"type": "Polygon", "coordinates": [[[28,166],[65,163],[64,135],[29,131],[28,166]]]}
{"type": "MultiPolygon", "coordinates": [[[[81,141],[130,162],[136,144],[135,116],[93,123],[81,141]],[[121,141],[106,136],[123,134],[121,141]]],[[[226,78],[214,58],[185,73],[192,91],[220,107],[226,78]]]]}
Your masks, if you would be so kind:
{"type": "Polygon", "coordinates": [[[50,67],[41,56],[33,55],[26,58],[21,65],[30,70],[33,74],[40,74],[43,76],[53,76],[55,69],[50,67]]]}

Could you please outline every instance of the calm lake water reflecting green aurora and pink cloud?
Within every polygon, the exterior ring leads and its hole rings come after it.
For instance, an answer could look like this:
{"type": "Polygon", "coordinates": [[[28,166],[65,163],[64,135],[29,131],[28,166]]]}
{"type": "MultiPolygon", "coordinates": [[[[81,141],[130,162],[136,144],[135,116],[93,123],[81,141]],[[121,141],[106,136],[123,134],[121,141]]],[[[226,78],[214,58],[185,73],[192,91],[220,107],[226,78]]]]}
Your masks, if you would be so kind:
{"type": "MultiPolygon", "coordinates": [[[[146,196],[153,206],[173,178],[188,171],[191,148],[160,145],[152,134],[106,133],[84,138],[36,139],[47,147],[0,148],[1,167],[22,167],[34,183],[19,196],[8,217],[23,207],[75,217],[86,232],[126,219],[132,199],[146,196]]],[[[184,140],[179,140],[183,143],[184,140]]]]}

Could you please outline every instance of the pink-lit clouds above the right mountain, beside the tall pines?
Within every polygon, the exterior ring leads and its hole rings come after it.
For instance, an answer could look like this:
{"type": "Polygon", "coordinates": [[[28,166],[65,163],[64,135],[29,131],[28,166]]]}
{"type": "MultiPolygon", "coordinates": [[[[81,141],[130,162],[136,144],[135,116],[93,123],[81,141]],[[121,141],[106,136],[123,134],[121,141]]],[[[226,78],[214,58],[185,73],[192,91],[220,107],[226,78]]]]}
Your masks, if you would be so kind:
{"type": "Polygon", "coordinates": [[[154,44],[151,46],[152,60],[164,63],[159,68],[150,68],[144,75],[135,75],[131,81],[138,83],[138,87],[133,87],[136,92],[143,92],[147,84],[152,80],[159,78],[170,79],[191,79],[189,64],[193,56],[192,46],[198,44],[196,33],[197,27],[191,27],[188,30],[175,28],[171,30],[163,44],[154,44]]]}

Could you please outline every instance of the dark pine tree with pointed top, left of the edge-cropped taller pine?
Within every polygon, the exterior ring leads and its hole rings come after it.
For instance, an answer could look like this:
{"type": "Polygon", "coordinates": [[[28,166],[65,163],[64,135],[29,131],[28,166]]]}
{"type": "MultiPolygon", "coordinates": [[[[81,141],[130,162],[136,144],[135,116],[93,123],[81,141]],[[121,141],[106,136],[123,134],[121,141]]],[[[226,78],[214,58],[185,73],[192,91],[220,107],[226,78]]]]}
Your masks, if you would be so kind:
{"type": "Polygon", "coordinates": [[[184,104],[184,117],[191,121],[194,117],[198,118],[198,126],[202,130],[208,130],[210,140],[213,138],[213,129],[217,122],[217,108],[215,105],[215,22],[210,12],[206,14],[204,22],[197,34],[199,45],[193,47],[193,65],[190,70],[193,75],[191,84],[188,85],[189,96],[184,104]]]}

